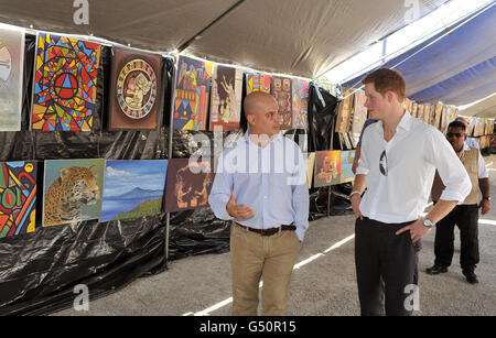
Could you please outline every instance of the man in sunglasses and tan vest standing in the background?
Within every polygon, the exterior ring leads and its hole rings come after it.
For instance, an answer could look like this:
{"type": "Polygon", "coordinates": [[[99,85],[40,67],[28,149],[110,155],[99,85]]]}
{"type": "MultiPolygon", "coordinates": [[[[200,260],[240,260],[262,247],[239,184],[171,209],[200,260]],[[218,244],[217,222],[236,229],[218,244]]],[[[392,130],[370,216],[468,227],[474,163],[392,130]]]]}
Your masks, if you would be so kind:
{"type": "MultiPolygon", "coordinates": [[[[446,138],[468,173],[472,190],[465,200],[457,205],[436,226],[434,241],[435,261],[433,266],[427,269],[427,273],[439,274],[448,272],[448,266],[451,265],[453,259],[454,226],[456,225],[460,229],[461,241],[460,265],[466,281],[471,284],[476,284],[478,279],[475,274],[475,268],[479,261],[478,208],[482,208],[482,215],[487,214],[490,209],[489,174],[478,149],[468,146],[465,142],[465,123],[460,120],[451,122],[448,127],[446,138]]],[[[432,200],[434,203],[439,200],[443,188],[444,186],[439,175],[435,175],[434,184],[432,185],[432,200]]]]}

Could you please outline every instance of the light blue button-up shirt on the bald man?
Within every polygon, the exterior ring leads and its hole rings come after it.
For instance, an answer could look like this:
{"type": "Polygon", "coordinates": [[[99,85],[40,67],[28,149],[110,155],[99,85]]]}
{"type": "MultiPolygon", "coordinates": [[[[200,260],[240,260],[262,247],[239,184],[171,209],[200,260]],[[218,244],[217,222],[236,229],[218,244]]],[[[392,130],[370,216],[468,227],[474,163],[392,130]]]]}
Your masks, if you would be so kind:
{"type": "Polygon", "coordinates": [[[309,186],[300,148],[281,135],[261,148],[250,141],[248,130],[218,159],[208,203],[217,218],[255,229],[294,222],[302,241],[309,227],[309,186]],[[252,217],[235,219],[227,212],[233,192],[237,205],[254,210],[252,217]]]}

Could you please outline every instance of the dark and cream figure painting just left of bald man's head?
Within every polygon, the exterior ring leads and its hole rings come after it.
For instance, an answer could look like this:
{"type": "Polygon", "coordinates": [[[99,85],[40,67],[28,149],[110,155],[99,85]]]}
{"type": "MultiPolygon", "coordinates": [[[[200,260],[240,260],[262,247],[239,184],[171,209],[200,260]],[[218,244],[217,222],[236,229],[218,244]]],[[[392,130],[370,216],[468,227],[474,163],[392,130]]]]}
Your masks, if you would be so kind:
{"type": "Polygon", "coordinates": [[[214,67],[209,130],[228,131],[239,128],[241,91],[241,69],[222,65],[214,67]]]}

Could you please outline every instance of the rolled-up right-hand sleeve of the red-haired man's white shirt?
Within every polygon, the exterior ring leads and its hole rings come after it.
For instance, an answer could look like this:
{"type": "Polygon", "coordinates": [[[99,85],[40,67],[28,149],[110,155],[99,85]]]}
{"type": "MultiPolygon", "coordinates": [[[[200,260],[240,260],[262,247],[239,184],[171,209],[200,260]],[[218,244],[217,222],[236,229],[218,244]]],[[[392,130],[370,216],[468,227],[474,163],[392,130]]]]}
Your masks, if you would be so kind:
{"type": "Polygon", "coordinates": [[[462,203],[472,190],[472,183],[465,167],[439,130],[430,129],[427,138],[427,155],[445,186],[440,199],[462,203]]]}

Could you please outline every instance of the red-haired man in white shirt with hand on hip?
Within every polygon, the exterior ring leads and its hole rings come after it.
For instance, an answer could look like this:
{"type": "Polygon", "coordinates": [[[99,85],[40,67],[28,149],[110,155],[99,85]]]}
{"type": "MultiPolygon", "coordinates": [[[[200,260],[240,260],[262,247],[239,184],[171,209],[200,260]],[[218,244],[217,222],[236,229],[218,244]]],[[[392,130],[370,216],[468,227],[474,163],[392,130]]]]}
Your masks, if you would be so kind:
{"type": "Polygon", "coordinates": [[[414,246],[465,199],[472,184],[443,134],[405,110],[401,74],[377,69],[362,83],[370,118],[379,120],[365,130],[351,194],[362,315],[411,315],[416,304],[408,301],[418,291],[414,246]],[[423,218],[435,170],[445,189],[423,218]]]}

